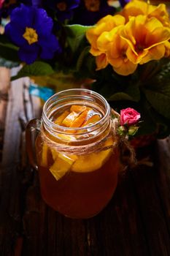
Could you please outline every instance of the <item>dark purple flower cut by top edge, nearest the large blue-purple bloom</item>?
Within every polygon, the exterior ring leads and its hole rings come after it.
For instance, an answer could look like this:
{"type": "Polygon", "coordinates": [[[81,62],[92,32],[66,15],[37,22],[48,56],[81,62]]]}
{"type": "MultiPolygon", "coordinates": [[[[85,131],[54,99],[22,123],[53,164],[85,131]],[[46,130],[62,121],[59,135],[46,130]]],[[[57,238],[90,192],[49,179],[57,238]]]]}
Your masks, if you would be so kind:
{"type": "Polygon", "coordinates": [[[73,10],[80,4],[80,0],[44,0],[42,4],[56,12],[58,20],[63,22],[72,18],[73,10]]]}

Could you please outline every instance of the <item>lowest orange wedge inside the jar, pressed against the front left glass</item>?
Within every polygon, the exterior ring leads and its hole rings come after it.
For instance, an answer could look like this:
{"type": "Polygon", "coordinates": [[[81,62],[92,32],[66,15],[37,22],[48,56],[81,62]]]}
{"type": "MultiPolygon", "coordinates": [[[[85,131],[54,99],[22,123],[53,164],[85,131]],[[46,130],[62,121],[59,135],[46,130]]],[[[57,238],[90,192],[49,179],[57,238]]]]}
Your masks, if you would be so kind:
{"type": "Polygon", "coordinates": [[[71,169],[76,159],[77,156],[75,155],[58,154],[49,170],[58,181],[71,169]]]}

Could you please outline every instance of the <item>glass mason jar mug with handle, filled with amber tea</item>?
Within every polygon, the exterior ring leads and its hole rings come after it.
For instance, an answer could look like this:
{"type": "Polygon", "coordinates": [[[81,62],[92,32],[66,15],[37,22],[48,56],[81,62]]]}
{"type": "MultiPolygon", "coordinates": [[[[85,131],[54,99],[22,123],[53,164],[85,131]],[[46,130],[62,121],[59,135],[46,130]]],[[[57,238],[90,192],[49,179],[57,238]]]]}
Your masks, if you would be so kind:
{"type": "Polygon", "coordinates": [[[39,171],[42,198],[55,211],[72,218],[98,214],[112,198],[120,169],[117,137],[104,97],[87,89],[70,89],[53,95],[44,105],[36,138],[36,163],[31,141],[39,121],[26,129],[28,155],[39,171]],[[63,127],[55,123],[72,105],[100,113],[95,124],[63,127]]]}

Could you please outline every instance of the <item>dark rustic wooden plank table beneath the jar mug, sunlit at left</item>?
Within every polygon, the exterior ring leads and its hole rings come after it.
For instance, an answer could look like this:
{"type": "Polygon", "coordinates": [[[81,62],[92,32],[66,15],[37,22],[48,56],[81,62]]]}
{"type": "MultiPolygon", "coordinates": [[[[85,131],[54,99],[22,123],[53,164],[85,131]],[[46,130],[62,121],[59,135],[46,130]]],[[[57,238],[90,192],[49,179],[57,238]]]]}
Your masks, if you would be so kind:
{"type": "Polygon", "coordinates": [[[9,84],[0,70],[0,255],[169,256],[170,140],[144,148],[148,165],[120,177],[115,195],[98,216],[69,219],[39,194],[38,173],[28,164],[25,128],[40,116],[28,79],[9,84]]]}

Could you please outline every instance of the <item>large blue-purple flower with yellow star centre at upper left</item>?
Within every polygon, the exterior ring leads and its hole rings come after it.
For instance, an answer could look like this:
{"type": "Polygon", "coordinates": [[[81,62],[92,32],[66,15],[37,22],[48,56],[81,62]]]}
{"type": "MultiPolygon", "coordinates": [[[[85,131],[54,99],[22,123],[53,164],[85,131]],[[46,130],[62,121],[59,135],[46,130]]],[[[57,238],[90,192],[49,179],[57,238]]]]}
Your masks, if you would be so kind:
{"type": "Polygon", "coordinates": [[[5,26],[5,33],[19,47],[19,57],[27,64],[37,57],[52,59],[61,48],[52,34],[53,20],[44,9],[21,4],[11,14],[11,21],[5,26]]]}

